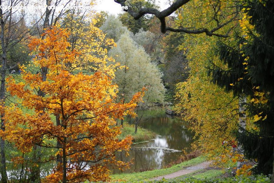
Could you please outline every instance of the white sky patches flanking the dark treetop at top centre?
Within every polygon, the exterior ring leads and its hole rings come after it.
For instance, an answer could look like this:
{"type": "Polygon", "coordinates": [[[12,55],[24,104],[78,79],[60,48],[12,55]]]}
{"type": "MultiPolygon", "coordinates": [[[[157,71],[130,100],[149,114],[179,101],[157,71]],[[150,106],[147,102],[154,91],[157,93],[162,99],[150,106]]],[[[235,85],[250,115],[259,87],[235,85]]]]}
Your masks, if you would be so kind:
{"type": "MultiPolygon", "coordinates": [[[[158,5],[160,5],[160,10],[164,10],[169,7],[166,5],[167,0],[158,0],[158,5]]],[[[114,2],[114,0],[98,0],[97,6],[95,6],[98,11],[107,11],[110,14],[118,15],[118,13],[123,12],[121,5],[114,2]]]]}

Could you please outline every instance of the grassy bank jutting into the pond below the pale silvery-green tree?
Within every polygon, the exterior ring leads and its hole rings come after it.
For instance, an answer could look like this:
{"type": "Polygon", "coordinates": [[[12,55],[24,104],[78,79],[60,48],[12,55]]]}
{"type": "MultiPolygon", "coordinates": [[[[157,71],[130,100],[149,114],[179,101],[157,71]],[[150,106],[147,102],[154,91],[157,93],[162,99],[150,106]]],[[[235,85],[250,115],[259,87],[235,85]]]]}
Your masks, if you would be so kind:
{"type": "Polygon", "coordinates": [[[137,128],[137,133],[135,132],[135,126],[125,123],[121,129],[121,134],[118,137],[119,140],[124,139],[126,136],[131,135],[133,140],[132,142],[143,142],[151,139],[155,139],[156,133],[148,129],[143,129],[141,127],[137,128]]]}

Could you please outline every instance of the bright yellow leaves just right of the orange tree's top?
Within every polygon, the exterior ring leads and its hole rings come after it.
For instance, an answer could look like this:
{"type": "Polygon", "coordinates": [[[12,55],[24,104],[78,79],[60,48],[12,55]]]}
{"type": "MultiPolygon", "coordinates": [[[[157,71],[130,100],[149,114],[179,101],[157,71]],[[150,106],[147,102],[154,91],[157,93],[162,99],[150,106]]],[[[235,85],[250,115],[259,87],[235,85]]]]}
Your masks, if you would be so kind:
{"type": "Polygon", "coordinates": [[[86,16],[79,13],[67,13],[63,18],[63,26],[68,30],[68,50],[80,50],[82,54],[78,56],[75,63],[69,63],[67,66],[73,72],[81,70],[83,72],[96,71],[99,67],[112,61],[105,57],[107,49],[116,46],[114,41],[107,38],[102,31],[96,27],[97,20],[93,16],[86,16]],[[77,71],[75,71],[77,70],[77,71]]]}

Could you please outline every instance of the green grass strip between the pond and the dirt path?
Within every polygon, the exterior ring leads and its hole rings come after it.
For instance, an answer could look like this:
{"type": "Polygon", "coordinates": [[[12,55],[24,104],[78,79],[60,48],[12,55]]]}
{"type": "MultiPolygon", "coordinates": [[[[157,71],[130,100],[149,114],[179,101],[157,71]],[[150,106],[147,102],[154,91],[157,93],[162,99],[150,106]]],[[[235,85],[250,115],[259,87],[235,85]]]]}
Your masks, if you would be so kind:
{"type": "Polygon", "coordinates": [[[150,178],[171,174],[176,171],[183,169],[184,167],[188,166],[195,166],[204,162],[205,159],[203,157],[196,157],[189,161],[184,161],[180,164],[176,164],[170,168],[160,169],[160,170],[152,170],[152,171],[143,171],[138,173],[130,173],[130,174],[114,174],[111,175],[111,181],[126,181],[126,182],[133,182],[133,181],[142,181],[147,180],[150,178]]]}

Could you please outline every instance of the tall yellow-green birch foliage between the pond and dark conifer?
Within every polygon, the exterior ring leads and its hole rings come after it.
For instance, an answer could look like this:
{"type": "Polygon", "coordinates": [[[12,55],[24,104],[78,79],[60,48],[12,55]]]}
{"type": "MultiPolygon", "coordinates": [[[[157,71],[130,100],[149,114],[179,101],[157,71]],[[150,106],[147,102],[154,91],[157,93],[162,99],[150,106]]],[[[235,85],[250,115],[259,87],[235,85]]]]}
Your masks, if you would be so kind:
{"type": "MultiPolygon", "coordinates": [[[[205,22],[210,21],[210,15],[214,12],[205,9],[198,2],[189,2],[188,12],[179,12],[181,19],[195,22],[197,26],[204,26],[205,22]],[[209,16],[203,16],[206,11],[209,16]],[[190,16],[191,14],[191,16],[190,16]],[[191,20],[190,20],[191,19],[191,20]]],[[[229,13],[229,9],[223,10],[229,13]]],[[[230,17],[224,17],[229,19],[230,17]]],[[[181,22],[180,17],[176,20],[181,22]]],[[[233,25],[231,23],[231,26],[233,25]]],[[[207,24],[214,27],[214,24],[207,24]]],[[[230,25],[229,25],[230,26],[230,25]]],[[[227,30],[224,29],[224,33],[227,30]]],[[[177,93],[175,95],[177,105],[175,109],[185,121],[191,123],[191,129],[195,131],[197,142],[193,144],[194,148],[201,148],[206,153],[209,160],[213,160],[220,166],[232,166],[231,158],[239,155],[232,146],[237,146],[236,131],[238,125],[238,100],[233,98],[233,93],[225,93],[223,89],[210,82],[211,78],[207,75],[206,66],[209,60],[220,66],[213,50],[216,47],[218,38],[205,35],[196,35],[195,37],[185,34],[184,42],[180,49],[184,51],[190,68],[190,76],[187,81],[177,84],[177,93]],[[223,145],[223,141],[228,143],[223,145]]],[[[233,42],[233,39],[228,40],[233,42]]],[[[222,66],[226,68],[227,66],[222,66]]],[[[247,128],[251,128],[247,124],[247,128]]]]}

